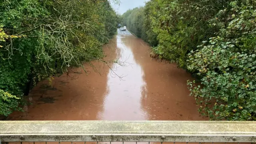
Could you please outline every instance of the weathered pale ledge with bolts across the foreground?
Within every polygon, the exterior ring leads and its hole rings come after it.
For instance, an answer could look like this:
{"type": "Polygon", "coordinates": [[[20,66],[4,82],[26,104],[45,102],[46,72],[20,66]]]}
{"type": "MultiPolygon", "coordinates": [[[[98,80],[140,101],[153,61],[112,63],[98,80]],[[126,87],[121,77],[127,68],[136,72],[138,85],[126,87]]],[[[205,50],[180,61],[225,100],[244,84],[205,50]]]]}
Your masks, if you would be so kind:
{"type": "Polygon", "coordinates": [[[0,121],[2,142],[256,142],[256,122],[0,121]]]}

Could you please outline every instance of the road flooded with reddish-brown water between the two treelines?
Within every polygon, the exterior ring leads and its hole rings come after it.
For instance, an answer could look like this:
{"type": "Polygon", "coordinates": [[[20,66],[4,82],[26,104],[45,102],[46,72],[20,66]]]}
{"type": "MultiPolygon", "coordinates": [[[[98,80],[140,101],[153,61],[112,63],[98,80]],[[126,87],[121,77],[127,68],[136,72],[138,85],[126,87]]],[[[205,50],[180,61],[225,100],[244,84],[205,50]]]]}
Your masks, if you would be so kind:
{"type": "Polygon", "coordinates": [[[93,61],[55,77],[52,87],[40,82],[26,112],[10,120],[204,120],[176,64],[150,58],[150,46],[128,31],[119,31],[104,46],[104,62],[93,61]],[[107,63],[105,63],[107,62],[107,63]]]}

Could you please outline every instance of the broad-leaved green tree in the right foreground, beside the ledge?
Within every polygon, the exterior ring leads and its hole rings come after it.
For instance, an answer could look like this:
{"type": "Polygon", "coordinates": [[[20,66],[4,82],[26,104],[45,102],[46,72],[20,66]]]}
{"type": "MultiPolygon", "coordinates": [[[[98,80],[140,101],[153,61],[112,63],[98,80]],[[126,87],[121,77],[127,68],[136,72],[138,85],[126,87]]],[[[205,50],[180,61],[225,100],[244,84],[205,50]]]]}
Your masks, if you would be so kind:
{"type": "MultiPolygon", "coordinates": [[[[199,111],[212,120],[256,120],[256,7],[253,1],[232,1],[210,24],[218,36],[189,54],[190,70],[202,76],[203,87],[189,82],[199,111]]],[[[255,1],[254,1],[255,4],[255,1]]]]}

